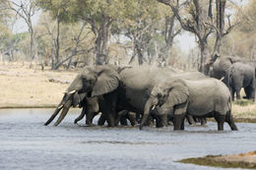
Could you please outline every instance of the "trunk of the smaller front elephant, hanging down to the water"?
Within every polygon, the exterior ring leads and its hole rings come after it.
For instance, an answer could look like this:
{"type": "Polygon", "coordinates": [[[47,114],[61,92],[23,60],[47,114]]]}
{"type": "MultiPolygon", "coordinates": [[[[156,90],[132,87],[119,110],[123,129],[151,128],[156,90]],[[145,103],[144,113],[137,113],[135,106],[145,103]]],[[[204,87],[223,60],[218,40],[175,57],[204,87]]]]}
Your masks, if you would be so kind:
{"type": "Polygon", "coordinates": [[[144,114],[143,114],[142,122],[140,125],[140,130],[142,130],[143,125],[148,120],[151,109],[153,110],[154,107],[158,104],[158,102],[159,102],[158,98],[153,97],[153,96],[151,96],[149,98],[149,100],[146,102],[145,107],[144,107],[144,114]]]}

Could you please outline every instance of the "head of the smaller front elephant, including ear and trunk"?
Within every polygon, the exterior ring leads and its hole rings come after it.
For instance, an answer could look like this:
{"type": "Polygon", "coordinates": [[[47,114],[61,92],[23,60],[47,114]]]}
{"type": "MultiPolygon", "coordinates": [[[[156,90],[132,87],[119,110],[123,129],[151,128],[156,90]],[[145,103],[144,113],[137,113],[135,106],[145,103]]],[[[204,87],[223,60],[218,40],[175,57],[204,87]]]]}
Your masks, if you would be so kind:
{"type": "Polygon", "coordinates": [[[156,106],[160,106],[164,112],[169,112],[173,110],[173,106],[186,102],[188,96],[188,87],[181,80],[176,80],[174,82],[163,82],[155,85],[152,89],[150,98],[145,104],[140,129],[142,129],[143,125],[148,119],[150,111],[156,106]]]}

